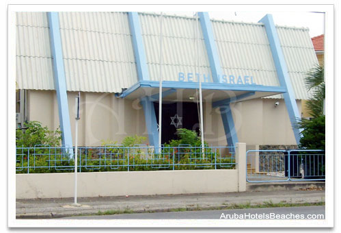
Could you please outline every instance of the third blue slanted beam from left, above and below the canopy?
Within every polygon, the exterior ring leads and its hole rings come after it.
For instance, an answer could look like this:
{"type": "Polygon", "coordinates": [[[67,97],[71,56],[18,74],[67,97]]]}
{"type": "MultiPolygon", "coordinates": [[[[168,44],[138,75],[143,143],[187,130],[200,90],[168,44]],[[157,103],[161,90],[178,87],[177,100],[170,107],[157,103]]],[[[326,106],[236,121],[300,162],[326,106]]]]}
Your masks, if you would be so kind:
{"type": "MultiPolygon", "coordinates": [[[[202,25],[202,34],[204,35],[208,60],[210,61],[210,70],[212,72],[213,82],[221,82],[219,77],[222,76],[221,65],[215,37],[208,12],[199,12],[200,24],[202,25]]],[[[230,108],[230,102],[226,102],[225,106],[220,108],[221,119],[223,120],[223,128],[226,134],[228,146],[234,146],[238,143],[238,137],[234,128],[234,121],[230,108]]]]}

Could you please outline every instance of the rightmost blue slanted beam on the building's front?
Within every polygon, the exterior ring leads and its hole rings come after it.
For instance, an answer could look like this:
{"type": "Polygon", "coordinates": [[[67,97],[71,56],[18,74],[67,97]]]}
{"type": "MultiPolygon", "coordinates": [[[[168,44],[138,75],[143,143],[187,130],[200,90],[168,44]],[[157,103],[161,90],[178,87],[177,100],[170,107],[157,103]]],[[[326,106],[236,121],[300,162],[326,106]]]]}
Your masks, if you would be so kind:
{"type": "Polygon", "coordinates": [[[286,93],[283,94],[284,101],[286,103],[286,109],[288,110],[296,142],[297,144],[299,144],[299,139],[301,138],[301,130],[297,129],[295,125],[297,125],[297,121],[301,119],[301,114],[299,114],[299,108],[297,108],[295,93],[292,89],[292,84],[288,75],[288,68],[286,66],[286,60],[284,59],[281,43],[279,42],[277,29],[275,27],[275,23],[273,23],[273,16],[271,14],[267,14],[259,22],[264,23],[264,27],[267,32],[267,37],[270,43],[273,61],[275,62],[279,84],[282,87],[286,88],[286,93]]]}

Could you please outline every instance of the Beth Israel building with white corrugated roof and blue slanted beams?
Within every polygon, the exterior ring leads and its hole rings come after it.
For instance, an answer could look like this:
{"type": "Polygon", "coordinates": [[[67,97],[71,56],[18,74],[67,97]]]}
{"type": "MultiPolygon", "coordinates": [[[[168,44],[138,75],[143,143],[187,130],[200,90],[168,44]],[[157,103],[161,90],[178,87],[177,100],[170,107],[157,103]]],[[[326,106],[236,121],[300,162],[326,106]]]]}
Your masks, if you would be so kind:
{"type": "MultiPolygon", "coordinates": [[[[163,143],[176,127],[198,131],[199,76],[208,144],[297,144],[292,125],[309,97],[303,79],[317,63],[307,28],[275,25],[270,15],[243,23],[201,12],[195,67],[195,18],[163,17],[163,143]]],[[[159,25],[150,13],[18,12],[18,121],[61,125],[72,145],[80,91],[79,145],[134,134],[156,145],[159,25]]]]}

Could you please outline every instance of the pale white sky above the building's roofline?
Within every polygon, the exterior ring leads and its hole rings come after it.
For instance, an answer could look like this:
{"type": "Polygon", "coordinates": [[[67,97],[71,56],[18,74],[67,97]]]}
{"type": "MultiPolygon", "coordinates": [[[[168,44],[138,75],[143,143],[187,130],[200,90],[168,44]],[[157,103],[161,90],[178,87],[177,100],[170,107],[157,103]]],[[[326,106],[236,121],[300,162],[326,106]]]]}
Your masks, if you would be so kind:
{"type": "MultiPolygon", "coordinates": [[[[164,12],[192,16],[194,12],[164,12]]],[[[310,37],[324,34],[325,14],[314,12],[208,12],[211,19],[258,22],[265,14],[272,14],[277,25],[308,27],[310,37]]]]}

